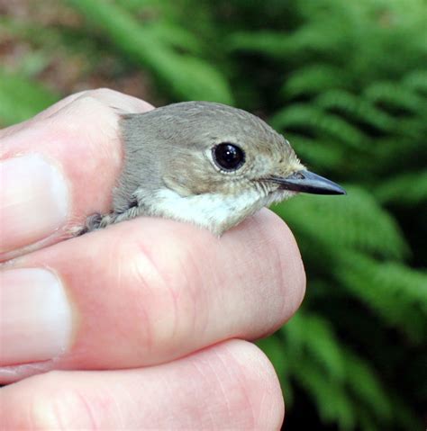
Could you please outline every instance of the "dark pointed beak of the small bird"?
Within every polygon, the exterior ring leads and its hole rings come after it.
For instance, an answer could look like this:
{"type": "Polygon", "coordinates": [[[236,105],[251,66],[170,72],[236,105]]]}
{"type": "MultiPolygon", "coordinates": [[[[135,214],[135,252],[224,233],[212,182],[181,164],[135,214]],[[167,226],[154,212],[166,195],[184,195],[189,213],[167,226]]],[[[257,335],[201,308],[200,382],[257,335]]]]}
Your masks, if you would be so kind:
{"type": "Polygon", "coordinates": [[[292,192],[346,194],[340,185],[310,171],[298,171],[286,177],[271,176],[269,179],[280,184],[282,190],[291,190],[292,192]]]}

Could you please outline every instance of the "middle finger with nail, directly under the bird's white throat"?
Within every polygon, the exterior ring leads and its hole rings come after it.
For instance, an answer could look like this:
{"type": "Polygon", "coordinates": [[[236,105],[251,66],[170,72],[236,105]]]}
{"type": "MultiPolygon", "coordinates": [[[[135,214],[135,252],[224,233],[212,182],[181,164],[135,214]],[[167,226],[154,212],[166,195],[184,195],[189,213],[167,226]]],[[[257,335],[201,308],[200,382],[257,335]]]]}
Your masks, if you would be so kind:
{"type": "Polygon", "coordinates": [[[304,296],[295,239],[267,210],[223,238],[186,223],[139,218],[14,264],[3,272],[0,361],[32,364],[5,366],[3,382],[40,366],[139,367],[228,338],[263,337],[304,296]]]}

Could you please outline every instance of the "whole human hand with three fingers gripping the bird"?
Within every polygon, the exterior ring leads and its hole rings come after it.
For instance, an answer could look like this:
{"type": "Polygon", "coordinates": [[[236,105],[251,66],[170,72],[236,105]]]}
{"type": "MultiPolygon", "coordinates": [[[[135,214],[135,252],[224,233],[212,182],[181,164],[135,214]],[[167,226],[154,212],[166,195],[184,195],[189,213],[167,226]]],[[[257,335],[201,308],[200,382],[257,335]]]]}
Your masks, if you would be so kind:
{"type": "Polygon", "coordinates": [[[141,217],[70,238],[111,206],[119,113],[150,109],[95,90],[0,130],[2,430],[281,427],[277,376],[249,341],[304,297],[282,220],[259,211],[215,238],[141,217]]]}

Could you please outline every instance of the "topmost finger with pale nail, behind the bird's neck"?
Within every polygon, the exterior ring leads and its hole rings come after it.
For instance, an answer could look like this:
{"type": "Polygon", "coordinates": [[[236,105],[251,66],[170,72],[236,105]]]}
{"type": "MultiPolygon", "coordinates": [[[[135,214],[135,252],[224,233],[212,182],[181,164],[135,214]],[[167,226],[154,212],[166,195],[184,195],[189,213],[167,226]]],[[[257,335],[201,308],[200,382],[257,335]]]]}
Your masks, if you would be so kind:
{"type": "Polygon", "coordinates": [[[123,156],[117,110],[149,109],[113,91],[86,92],[2,139],[0,260],[58,242],[87,214],[108,211],[123,156]]]}

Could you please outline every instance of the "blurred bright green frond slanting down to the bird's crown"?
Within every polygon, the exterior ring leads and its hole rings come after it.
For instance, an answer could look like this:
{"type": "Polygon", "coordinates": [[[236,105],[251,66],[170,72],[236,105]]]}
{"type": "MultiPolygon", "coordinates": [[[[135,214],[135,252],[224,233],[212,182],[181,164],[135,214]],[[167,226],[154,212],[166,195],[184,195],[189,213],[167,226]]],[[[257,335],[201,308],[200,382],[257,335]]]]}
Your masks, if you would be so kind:
{"type": "Polygon", "coordinates": [[[88,20],[137,65],[150,67],[180,98],[232,103],[225,77],[201,58],[177,52],[195,49],[197,39],[176,26],[142,26],[119,5],[92,0],[70,0],[88,20]]]}

